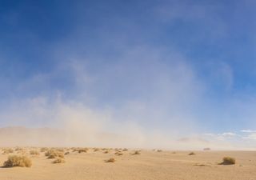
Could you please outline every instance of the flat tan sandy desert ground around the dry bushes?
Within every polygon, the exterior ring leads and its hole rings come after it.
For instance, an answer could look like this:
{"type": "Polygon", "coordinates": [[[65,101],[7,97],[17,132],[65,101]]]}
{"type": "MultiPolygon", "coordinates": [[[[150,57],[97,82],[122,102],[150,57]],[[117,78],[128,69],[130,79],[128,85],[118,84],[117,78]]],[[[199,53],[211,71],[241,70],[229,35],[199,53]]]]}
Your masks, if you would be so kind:
{"type": "MultiPolygon", "coordinates": [[[[0,168],[1,180],[255,180],[256,152],[250,151],[187,151],[134,150],[115,155],[103,151],[65,155],[66,162],[54,164],[44,153],[27,154],[33,165],[30,168],[0,168]],[[218,165],[224,156],[236,158],[235,165],[218,165]],[[105,162],[115,158],[116,162],[105,162]]],[[[15,153],[12,153],[15,154],[15,153]]],[[[0,164],[10,154],[0,154],[0,164]]]]}

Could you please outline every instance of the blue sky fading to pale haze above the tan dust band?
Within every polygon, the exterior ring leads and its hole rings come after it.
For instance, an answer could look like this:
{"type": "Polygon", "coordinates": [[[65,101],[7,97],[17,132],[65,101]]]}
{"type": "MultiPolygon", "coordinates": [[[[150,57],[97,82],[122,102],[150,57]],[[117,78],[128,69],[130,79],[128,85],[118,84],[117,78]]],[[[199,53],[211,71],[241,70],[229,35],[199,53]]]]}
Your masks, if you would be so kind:
{"type": "Polygon", "coordinates": [[[255,7],[0,1],[0,126],[52,126],[65,107],[114,124],[100,130],[254,141],[255,7]]]}

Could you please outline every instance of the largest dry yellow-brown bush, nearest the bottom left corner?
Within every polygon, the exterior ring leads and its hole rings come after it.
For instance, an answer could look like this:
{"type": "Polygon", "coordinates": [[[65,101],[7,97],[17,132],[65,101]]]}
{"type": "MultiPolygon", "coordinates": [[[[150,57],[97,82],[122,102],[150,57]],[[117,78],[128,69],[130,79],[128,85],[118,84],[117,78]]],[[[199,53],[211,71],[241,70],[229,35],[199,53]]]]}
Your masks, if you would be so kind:
{"type": "Polygon", "coordinates": [[[4,162],[4,167],[14,167],[14,166],[20,166],[20,167],[30,167],[32,166],[32,162],[30,158],[27,158],[26,156],[9,156],[8,160],[4,162]]]}

